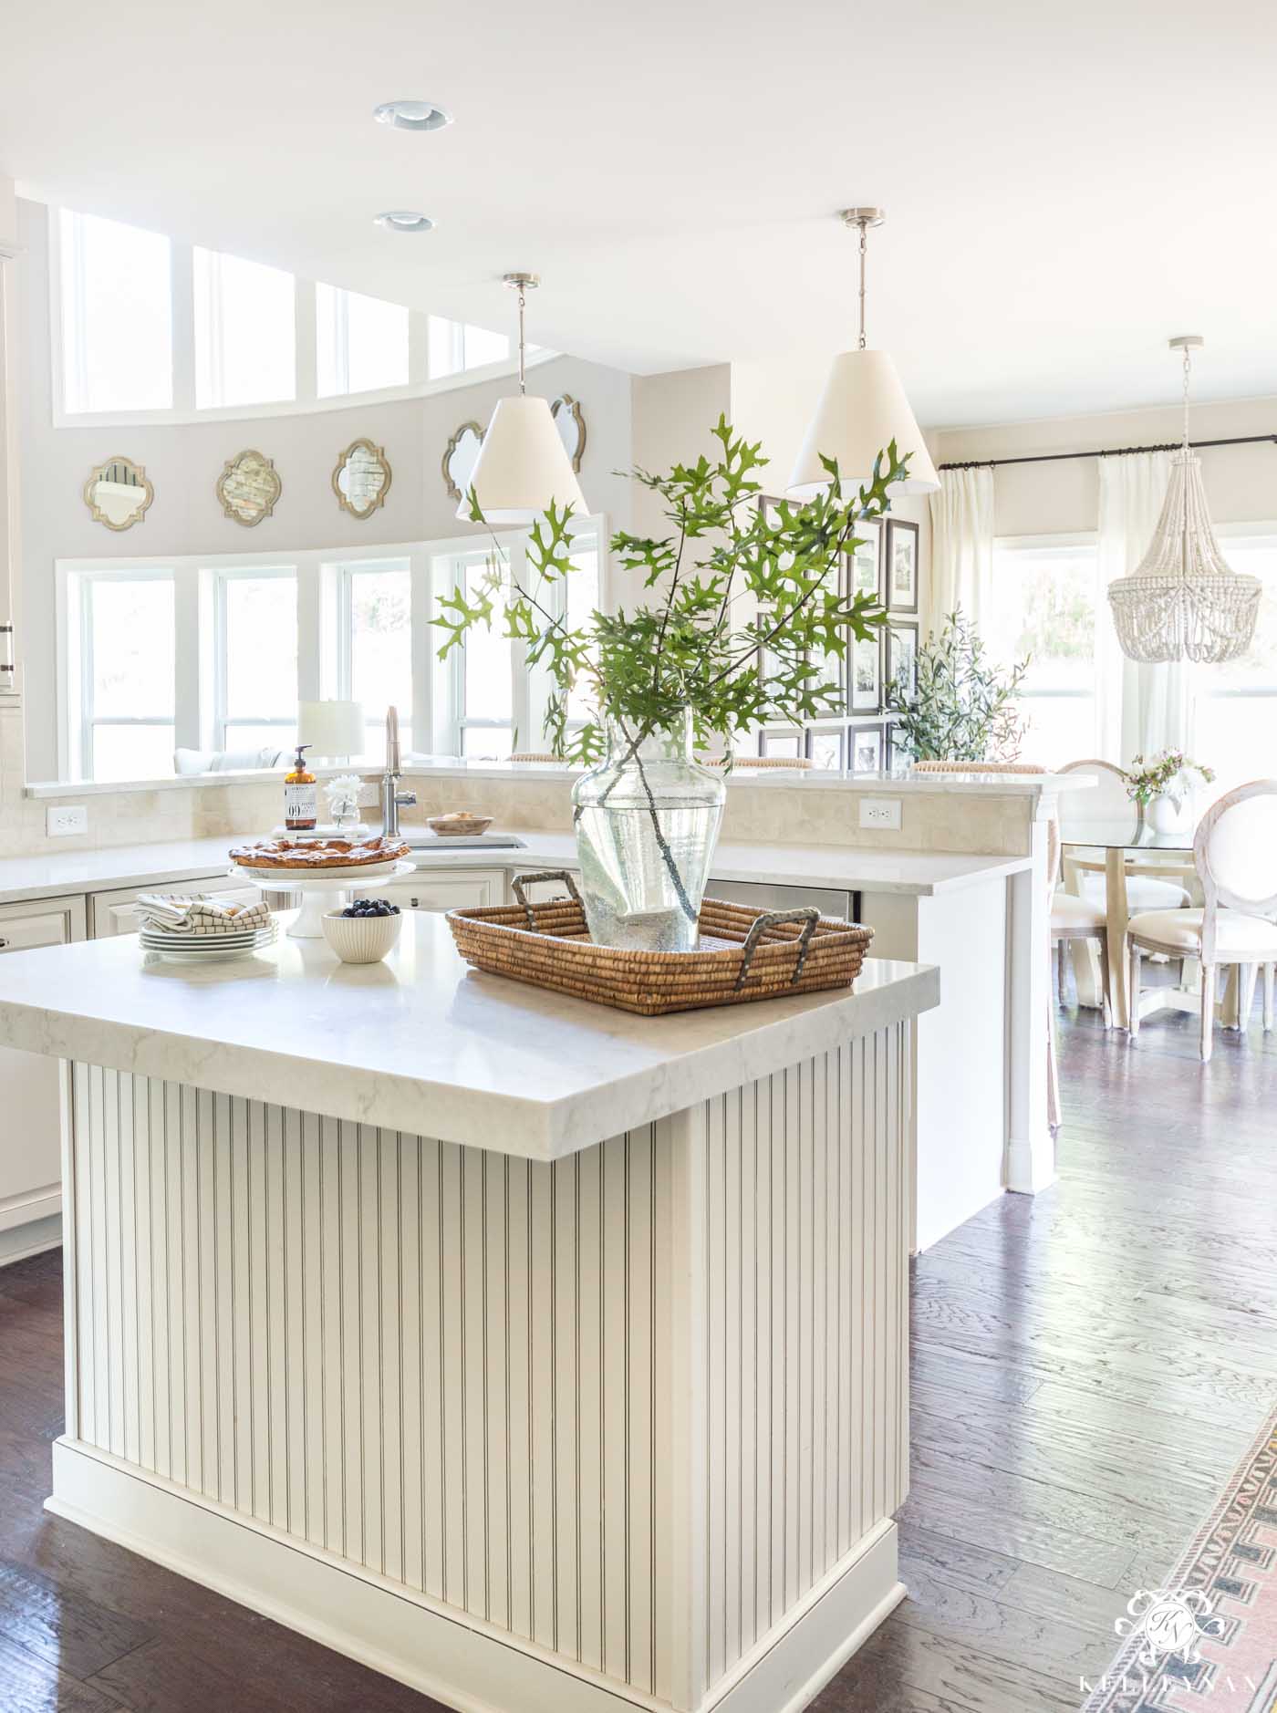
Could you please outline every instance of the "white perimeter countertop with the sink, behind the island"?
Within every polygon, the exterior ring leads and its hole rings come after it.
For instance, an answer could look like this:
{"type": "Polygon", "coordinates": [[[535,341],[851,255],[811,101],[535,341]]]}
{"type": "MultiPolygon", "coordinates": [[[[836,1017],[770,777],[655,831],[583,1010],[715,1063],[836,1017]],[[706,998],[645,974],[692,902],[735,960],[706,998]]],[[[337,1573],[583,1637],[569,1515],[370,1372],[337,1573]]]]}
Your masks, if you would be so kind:
{"type": "MultiPolygon", "coordinates": [[[[519,831],[525,850],[415,851],[423,868],[518,868],[576,865],[571,833],[519,831]]],[[[165,886],[218,874],[230,867],[235,838],[187,839],[171,845],[118,845],[63,855],[0,858],[0,903],[65,898],[117,887],[165,886]]],[[[860,850],[854,845],[732,845],[718,846],[713,874],[720,880],[771,886],[821,886],[848,892],[902,892],[926,898],[979,884],[1030,867],[1028,856],[960,856],[948,851],[860,850]]]]}

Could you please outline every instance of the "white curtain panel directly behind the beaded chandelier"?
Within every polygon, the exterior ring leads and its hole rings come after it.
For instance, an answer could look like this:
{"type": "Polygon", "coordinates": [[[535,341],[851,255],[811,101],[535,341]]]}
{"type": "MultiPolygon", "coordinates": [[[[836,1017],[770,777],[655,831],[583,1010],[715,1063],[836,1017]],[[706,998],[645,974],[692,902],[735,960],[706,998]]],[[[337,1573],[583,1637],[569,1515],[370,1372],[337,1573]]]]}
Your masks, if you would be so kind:
{"type": "Polygon", "coordinates": [[[1114,577],[1130,576],[1148,552],[1171,481],[1171,454],[1128,452],[1102,457],[1099,466],[1099,754],[1104,761],[1126,766],[1131,755],[1190,747],[1191,675],[1184,661],[1145,666],[1126,660],[1107,598],[1114,577]]]}

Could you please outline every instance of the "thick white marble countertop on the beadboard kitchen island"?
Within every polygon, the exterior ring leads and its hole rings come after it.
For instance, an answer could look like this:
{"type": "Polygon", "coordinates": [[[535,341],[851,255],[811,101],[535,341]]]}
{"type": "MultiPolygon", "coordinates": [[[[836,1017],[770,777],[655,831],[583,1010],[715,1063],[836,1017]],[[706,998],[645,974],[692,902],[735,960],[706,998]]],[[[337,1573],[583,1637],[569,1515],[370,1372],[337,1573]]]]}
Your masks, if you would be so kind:
{"type": "Polygon", "coordinates": [[[934,966],[869,958],[850,994],[633,1018],[470,970],[425,913],[377,964],[281,939],[192,968],[130,935],[0,958],[14,1047],[537,1160],[936,1004],[934,966]]]}

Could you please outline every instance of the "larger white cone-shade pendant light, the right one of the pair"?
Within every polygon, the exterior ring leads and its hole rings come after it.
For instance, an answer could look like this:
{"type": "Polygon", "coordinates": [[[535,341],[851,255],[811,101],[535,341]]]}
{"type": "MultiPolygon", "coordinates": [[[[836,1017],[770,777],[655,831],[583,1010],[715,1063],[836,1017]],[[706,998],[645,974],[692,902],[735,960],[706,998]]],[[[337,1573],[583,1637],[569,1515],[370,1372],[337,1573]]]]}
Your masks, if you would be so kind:
{"type": "Polygon", "coordinates": [[[854,351],[835,356],[816,416],[802,442],[787,493],[792,500],[811,500],[830,486],[830,473],[821,454],[838,463],[838,476],[848,492],[872,478],[874,459],[895,440],[900,457],[908,456],[908,475],[893,483],[898,493],[934,493],[939,488],[922,430],[908,408],[895,363],[886,351],[871,351],[864,336],[864,269],[867,233],[881,226],[881,209],[843,209],[842,221],[860,240],[860,337],[854,351]]]}

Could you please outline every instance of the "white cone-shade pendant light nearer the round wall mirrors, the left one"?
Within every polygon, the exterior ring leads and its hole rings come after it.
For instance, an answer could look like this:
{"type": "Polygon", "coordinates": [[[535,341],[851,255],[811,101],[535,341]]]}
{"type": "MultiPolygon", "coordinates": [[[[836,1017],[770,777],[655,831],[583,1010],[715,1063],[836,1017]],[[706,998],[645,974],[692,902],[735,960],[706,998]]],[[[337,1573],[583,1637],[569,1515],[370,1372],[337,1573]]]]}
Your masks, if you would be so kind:
{"type": "Polygon", "coordinates": [[[519,391],[497,401],[456,514],[470,519],[473,495],[490,524],[530,524],[550,504],[571,505],[581,517],[590,507],[550,416],[550,403],[528,394],[523,312],[540,279],[537,274],[504,274],[502,284],[519,295],[519,391]]]}

